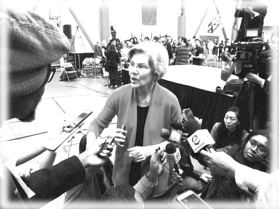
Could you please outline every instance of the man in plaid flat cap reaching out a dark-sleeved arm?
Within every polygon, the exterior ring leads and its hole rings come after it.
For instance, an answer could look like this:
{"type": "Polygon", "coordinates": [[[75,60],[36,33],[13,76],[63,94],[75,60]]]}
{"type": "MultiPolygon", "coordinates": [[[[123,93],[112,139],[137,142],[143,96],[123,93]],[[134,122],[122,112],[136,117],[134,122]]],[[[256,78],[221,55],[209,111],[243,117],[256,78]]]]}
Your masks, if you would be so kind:
{"type": "MultiPolygon", "coordinates": [[[[4,120],[18,118],[23,122],[30,122],[35,118],[35,109],[44,93],[45,84],[51,81],[55,73],[51,63],[69,52],[70,44],[56,26],[32,11],[7,9],[1,17],[6,20],[4,25],[7,26],[10,44],[6,69],[8,85],[0,89],[1,94],[7,92],[9,97],[9,110],[4,120]]],[[[6,185],[6,195],[1,194],[4,201],[1,199],[0,208],[15,201],[22,204],[22,200],[26,207],[31,201],[33,204],[33,200],[51,201],[82,183],[85,180],[86,167],[93,167],[97,172],[105,159],[111,156],[112,146],[108,147],[110,150],[100,151],[99,145],[97,142],[93,143],[78,156],[22,177],[27,187],[35,193],[29,198],[20,180],[17,181],[5,167],[5,161],[9,160],[5,158],[8,151],[2,149],[0,144],[0,164],[3,168],[0,168],[0,187],[6,185]]],[[[28,158],[27,151],[26,156],[28,158]]],[[[19,161],[23,163],[26,160],[19,156],[17,165],[20,164],[19,161]]]]}

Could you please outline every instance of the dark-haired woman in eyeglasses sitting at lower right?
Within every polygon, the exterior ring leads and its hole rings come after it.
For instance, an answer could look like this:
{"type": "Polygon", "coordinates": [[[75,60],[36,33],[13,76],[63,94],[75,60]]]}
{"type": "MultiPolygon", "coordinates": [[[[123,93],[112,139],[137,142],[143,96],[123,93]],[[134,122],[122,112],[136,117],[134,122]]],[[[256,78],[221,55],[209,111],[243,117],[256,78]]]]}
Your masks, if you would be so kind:
{"type": "MultiPolygon", "coordinates": [[[[253,131],[241,145],[217,149],[217,152],[225,152],[238,163],[262,172],[269,171],[270,151],[271,136],[267,130],[253,131]]],[[[198,161],[204,163],[201,157],[198,161]]],[[[204,189],[201,198],[215,202],[251,200],[251,197],[237,186],[234,178],[218,174],[212,174],[212,181],[204,189]]]]}

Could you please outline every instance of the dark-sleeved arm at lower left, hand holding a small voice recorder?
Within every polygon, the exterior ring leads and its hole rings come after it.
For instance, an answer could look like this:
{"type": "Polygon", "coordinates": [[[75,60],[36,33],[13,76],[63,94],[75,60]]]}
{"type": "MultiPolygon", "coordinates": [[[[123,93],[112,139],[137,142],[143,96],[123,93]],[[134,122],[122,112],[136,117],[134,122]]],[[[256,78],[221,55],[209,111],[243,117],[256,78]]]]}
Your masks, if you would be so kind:
{"type": "Polygon", "coordinates": [[[93,143],[85,152],[72,156],[60,163],[33,172],[28,177],[21,177],[24,183],[35,192],[33,200],[51,201],[67,190],[85,180],[85,168],[94,167],[97,172],[104,164],[105,159],[111,156],[109,150],[100,150],[101,142],[93,143]]]}

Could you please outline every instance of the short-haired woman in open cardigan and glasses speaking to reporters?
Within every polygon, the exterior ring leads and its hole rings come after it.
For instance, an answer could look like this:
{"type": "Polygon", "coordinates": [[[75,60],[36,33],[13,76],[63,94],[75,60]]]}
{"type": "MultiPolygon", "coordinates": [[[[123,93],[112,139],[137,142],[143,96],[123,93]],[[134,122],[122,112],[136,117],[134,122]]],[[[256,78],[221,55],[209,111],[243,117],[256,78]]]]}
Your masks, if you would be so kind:
{"type": "MultiPolygon", "coordinates": [[[[154,149],[166,150],[168,142],[160,137],[160,132],[170,127],[173,118],[180,118],[181,109],[176,96],[157,83],[169,63],[164,46],[142,42],[130,49],[128,58],[131,83],[117,88],[108,97],[88,128],[87,143],[96,140],[117,115],[117,130],[112,134],[118,145],[112,181],[115,185],[133,186],[148,171],[154,149]],[[126,126],[125,136],[121,125],[126,126]]],[[[169,170],[164,167],[151,197],[167,190],[168,177],[169,170]]]]}

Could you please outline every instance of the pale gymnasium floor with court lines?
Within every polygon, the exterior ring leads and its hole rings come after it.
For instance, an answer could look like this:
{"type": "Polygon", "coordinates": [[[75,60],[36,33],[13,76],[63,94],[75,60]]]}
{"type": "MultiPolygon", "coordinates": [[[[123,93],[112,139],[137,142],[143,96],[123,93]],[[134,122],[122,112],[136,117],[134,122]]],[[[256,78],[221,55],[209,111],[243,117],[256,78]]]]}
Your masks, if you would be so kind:
{"type": "MultiPolygon", "coordinates": [[[[86,133],[90,122],[98,115],[103,108],[105,101],[114,89],[105,87],[107,79],[92,79],[92,75],[87,78],[79,78],[67,81],[59,81],[61,73],[57,71],[53,80],[47,83],[44,95],[36,110],[36,119],[30,123],[23,123],[17,119],[11,119],[4,122],[0,129],[0,141],[2,147],[12,147],[11,155],[18,152],[25,152],[28,147],[35,147],[44,144],[46,141],[58,136],[61,132],[64,120],[71,120],[82,113],[84,110],[92,110],[93,113],[85,120],[81,127],[86,133]]],[[[108,136],[116,129],[117,117],[112,120],[111,125],[105,129],[102,136],[108,136]]],[[[67,142],[58,152],[54,164],[62,161],[68,156],[78,154],[78,144],[82,134],[76,136],[67,142]]],[[[32,167],[37,161],[43,160],[38,156],[19,169],[32,167]]],[[[114,152],[111,160],[114,161],[114,152]]],[[[204,170],[196,160],[193,160],[194,168],[201,172],[209,173],[204,170]]],[[[64,195],[47,204],[44,208],[62,208],[64,195]]]]}

